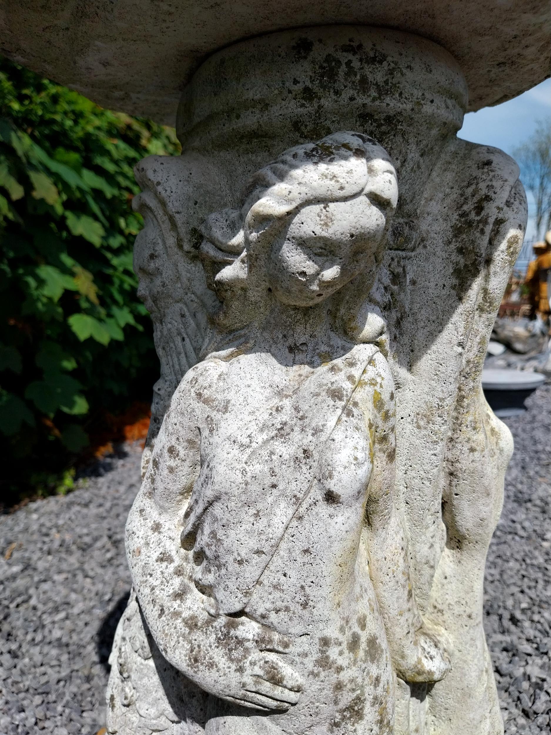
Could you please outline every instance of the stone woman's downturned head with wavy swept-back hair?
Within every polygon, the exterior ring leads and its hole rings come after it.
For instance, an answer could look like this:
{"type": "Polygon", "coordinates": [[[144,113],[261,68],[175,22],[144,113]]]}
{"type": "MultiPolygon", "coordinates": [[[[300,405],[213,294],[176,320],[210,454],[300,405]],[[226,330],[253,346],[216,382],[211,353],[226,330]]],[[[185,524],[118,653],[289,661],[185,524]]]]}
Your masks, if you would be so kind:
{"type": "Polygon", "coordinates": [[[374,277],[397,193],[389,155],[370,137],[340,132],[286,151],[252,176],[240,209],[202,228],[223,312],[235,317],[239,302],[246,320],[245,302],[256,311],[271,298],[314,306],[364,270],[374,277]]]}

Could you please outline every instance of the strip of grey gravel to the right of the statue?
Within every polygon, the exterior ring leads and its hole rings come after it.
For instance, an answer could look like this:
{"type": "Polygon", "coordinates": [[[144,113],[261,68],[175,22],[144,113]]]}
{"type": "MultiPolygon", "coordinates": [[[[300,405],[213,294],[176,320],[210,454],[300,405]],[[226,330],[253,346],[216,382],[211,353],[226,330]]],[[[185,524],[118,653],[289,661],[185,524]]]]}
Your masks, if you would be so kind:
{"type": "Polygon", "coordinates": [[[551,385],[505,419],[515,451],[486,564],[485,620],[505,735],[550,733],[551,385]],[[546,720],[547,717],[547,720],[546,720]]]}

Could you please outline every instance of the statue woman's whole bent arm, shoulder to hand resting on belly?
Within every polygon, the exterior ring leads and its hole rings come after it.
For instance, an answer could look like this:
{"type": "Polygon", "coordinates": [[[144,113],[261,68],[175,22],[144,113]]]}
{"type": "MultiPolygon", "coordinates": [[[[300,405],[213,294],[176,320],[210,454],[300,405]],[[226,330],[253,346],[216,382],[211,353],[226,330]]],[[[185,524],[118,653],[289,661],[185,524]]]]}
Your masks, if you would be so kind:
{"type": "Polygon", "coordinates": [[[298,675],[281,655],[289,650],[288,639],[245,616],[209,614],[192,580],[192,552],[181,548],[183,516],[201,462],[188,395],[181,384],[126,523],[126,555],[140,607],[165,659],[202,689],[256,709],[288,709],[300,690],[298,675]]]}

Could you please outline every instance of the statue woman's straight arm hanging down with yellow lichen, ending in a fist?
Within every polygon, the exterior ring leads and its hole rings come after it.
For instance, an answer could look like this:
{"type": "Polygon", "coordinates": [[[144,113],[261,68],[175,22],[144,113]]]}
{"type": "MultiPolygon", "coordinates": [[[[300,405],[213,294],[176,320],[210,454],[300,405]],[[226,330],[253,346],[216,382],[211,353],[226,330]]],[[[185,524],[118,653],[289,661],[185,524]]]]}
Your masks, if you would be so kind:
{"type": "Polygon", "coordinates": [[[397,675],[412,682],[438,681],[449,667],[439,650],[436,631],[428,630],[415,603],[407,538],[397,507],[394,383],[380,353],[370,368],[377,387],[362,391],[373,452],[363,534],[370,577],[397,675]]]}

